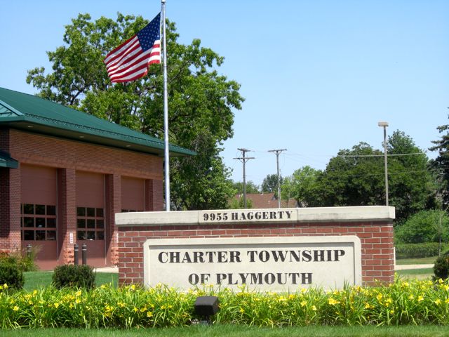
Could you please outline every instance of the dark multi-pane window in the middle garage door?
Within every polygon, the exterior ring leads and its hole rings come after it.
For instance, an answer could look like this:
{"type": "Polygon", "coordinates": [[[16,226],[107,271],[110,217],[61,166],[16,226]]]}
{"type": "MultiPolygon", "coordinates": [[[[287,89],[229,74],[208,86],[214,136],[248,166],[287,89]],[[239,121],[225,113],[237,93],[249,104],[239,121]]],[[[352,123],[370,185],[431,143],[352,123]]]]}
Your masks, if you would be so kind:
{"type": "Polygon", "coordinates": [[[76,207],[76,238],[105,239],[105,211],[95,207],[76,207]]]}

